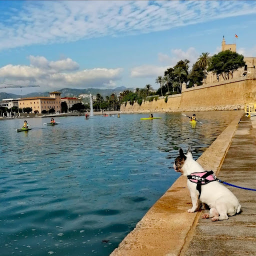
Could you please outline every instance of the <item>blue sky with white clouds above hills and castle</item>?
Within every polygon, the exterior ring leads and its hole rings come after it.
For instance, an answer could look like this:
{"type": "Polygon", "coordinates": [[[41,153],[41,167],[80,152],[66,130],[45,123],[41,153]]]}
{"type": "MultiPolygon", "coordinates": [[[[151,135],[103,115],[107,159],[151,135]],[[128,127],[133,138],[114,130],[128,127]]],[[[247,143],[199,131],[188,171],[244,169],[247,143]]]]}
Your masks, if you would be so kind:
{"type": "MultiPolygon", "coordinates": [[[[220,51],[222,36],[256,56],[256,1],[0,1],[0,82],[22,88],[158,88],[178,60],[220,51]]],[[[4,84],[0,84],[4,86],[4,84]]],[[[0,88],[19,93],[20,89],[0,88]]]]}

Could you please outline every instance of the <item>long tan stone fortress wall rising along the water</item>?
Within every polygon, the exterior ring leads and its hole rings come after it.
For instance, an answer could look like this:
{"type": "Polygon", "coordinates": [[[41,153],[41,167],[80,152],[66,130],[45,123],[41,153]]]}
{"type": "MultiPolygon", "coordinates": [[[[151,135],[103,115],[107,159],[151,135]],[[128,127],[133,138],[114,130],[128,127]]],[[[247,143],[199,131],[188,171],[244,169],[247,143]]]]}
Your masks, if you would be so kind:
{"type": "Polygon", "coordinates": [[[182,88],[181,94],[143,101],[141,106],[127,102],[123,112],[176,112],[243,109],[245,103],[256,102],[256,78],[239,77],[192,88],[182,88]]]}

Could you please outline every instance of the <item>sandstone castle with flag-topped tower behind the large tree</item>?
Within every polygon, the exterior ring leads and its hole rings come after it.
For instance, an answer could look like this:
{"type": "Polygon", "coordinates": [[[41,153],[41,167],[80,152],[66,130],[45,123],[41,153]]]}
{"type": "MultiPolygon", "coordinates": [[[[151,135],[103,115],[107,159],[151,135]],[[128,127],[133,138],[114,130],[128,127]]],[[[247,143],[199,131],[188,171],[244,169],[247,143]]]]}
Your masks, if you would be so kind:
{"type": "MultiPolygon", "coordinates": [[[[226,44],[225,38],[223,36],[222,42],[221,42],[221,51],[224,50],[231,50],[236,51],[236,44],[226,44]]],[[[237,70],[233,71],[232,79],[247,76],[249,77],[256,77],[256,57],[244,57],[243,58],[245,65],[244,67],[240,67],[237,70]]],[[[231,79],[231,77],[229,78],[231,79]]],[[[213,72],[207,72],[206,76],[206,83],[214,83],[214,82],[220,82],[224,81],[224,78],[222,75],[216,75],[213,72]]],[[[204,80],[203,80],[204,82],[204,80]]]]}

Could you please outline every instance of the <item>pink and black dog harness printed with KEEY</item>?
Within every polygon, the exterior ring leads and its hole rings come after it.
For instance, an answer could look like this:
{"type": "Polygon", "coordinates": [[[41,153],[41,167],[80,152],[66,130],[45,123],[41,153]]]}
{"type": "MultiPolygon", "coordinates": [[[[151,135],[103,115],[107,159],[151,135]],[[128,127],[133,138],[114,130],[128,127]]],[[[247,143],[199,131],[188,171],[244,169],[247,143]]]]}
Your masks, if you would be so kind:
{"type": "Polygon", "coordinates": [[[203,172],[193,172],[190,175],[187,175],[187,178],[189,179],[189,181],[196,183],[196,189],[199,192],[198,199],[200,198],[201,195],[201,185],[216,180],[216,176],[214,175],[212,170],[206,170],[203,172]]]}

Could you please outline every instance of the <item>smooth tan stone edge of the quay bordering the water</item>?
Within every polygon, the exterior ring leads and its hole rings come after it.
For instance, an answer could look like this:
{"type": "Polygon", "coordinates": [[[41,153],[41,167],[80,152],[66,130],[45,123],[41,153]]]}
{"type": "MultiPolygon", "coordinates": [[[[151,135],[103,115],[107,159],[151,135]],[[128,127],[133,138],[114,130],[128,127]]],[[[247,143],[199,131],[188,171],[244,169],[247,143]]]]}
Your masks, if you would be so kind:
{"type": "MultiPolygon", "coordinates": [[[[241,116],[242,111],[237,111],[233,121],[197,159],[203,168],[218,173],[241,116]]],[[[201,214],[188,213],[190,207],[186,177],[180,176],[110,255],[184,255],[201,214]]]]}

